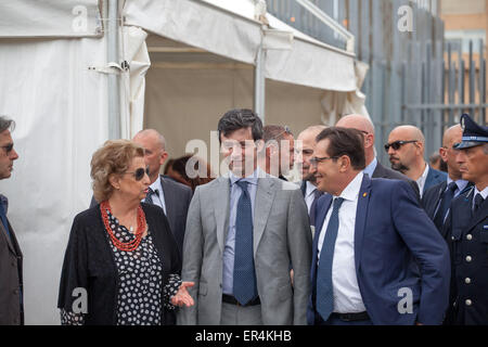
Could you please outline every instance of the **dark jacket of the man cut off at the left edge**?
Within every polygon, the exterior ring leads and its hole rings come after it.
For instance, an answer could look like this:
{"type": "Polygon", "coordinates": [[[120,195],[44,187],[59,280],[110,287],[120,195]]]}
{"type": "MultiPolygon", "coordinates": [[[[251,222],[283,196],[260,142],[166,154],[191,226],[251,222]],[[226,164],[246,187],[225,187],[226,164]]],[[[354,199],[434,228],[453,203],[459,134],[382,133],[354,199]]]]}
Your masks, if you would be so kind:
{"type": "Polygon", "coordinates": [[[21,306],[22,252],[9,222],[11,237],[0,221],[0,325],[20,325],[24,323],[21,306]]]}

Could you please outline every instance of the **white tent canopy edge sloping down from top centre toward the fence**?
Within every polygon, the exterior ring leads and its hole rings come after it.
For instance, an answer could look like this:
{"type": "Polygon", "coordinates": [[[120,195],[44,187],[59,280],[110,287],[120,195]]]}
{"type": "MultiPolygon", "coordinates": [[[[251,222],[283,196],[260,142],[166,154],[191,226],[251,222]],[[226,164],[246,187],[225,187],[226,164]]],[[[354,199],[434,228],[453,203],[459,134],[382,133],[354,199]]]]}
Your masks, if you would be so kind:
{"type": "MultiPolygon", "coordinates": [[[[239,62],[256,63],[265,35],[252,1],[128,0],[125,25],[201,48],[239,62]]],[[[357,89],[355,55],[321,43],[267,14],[272,29],[290,31],[287,50],[269,49],[265,77],[324,90],[357,89]]]]}

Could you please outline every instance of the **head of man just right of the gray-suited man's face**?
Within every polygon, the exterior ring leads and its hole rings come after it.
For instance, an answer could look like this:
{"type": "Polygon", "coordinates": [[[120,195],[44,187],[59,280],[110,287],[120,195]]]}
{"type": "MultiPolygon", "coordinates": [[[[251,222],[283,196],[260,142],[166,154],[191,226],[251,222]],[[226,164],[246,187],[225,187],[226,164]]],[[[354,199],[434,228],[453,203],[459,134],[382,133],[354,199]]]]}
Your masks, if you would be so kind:
{"type": "Polygon", "coordinates": [[[295,139],[286,126],[270,125],[262,128],[265,149],[258,158],[259,167],[284,181],[295,163],[295,139]]]}

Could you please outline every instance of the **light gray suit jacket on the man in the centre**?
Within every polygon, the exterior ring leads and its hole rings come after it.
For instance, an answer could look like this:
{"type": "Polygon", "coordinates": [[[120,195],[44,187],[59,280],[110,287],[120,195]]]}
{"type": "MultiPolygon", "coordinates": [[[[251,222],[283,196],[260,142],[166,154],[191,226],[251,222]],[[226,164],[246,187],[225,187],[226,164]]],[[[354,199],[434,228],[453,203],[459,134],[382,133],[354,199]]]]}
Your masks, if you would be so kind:
{"type": "MultiPolygon", "coordinates": [[[[222,254],[229,229],[229,178],[200,185],[190,204],[182,281],[195,282],[195,305],[181,308],[178,324],[220,324],[222,254]]],[[[259,178],[254,214],[254,261],[266,325],[306,324],[310,287],[311,233],[299,188],[259,178]],[[290,264],[294,268],[294,287],[290,264]]]]}

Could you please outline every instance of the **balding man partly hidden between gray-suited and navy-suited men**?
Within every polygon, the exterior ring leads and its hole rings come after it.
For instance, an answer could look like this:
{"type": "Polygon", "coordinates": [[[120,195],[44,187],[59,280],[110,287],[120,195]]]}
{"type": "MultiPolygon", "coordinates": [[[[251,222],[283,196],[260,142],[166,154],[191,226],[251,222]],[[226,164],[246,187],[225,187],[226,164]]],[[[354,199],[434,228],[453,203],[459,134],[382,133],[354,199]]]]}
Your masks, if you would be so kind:
{"type": "Polygon", "coordinates": [[[301,172],[301,183],[300,189],[307,204],[308,215],[310,216],[310,226],[314,226],[314,208],[312,205],[317,204],[317,200],[323,194],[317,189],[316,178],[310,174],[310,158],[313,154],[313,149],[316,147],[316,138],[318,134],[325,129],[325,126],[317,125],[311,126],[301,131],[296,138],[297,143],[297,166],[301,172]]]}

